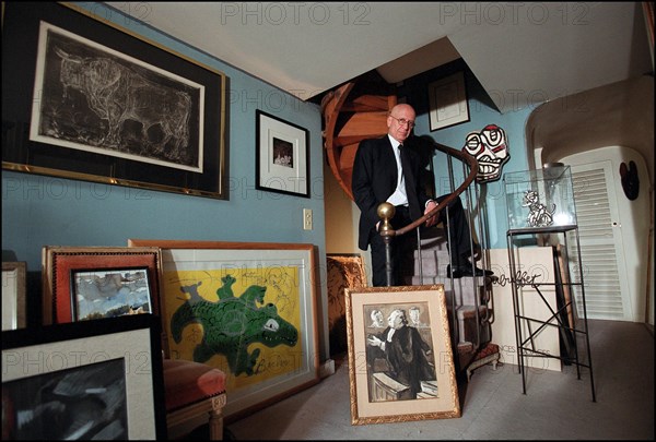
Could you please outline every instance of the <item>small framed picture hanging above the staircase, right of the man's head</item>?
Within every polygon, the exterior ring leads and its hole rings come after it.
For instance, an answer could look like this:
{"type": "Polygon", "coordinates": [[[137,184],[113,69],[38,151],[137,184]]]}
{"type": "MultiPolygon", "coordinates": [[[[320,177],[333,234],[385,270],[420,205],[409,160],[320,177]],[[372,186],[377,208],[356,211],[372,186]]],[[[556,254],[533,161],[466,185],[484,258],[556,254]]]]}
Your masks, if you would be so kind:
{"type": "Polygon", "coordinates": [[[431,131],[469,121],[462,71],[429,84],[431,131]]]}

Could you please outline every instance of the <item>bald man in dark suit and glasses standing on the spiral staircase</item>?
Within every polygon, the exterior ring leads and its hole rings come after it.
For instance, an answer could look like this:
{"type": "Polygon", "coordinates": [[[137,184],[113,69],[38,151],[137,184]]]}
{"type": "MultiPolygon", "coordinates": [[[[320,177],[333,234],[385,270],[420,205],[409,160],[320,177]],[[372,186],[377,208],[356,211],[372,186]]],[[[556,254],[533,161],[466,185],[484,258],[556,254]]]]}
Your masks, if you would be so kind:
{"type": "MultiPolygon", "coordinates": [[[[437,206],[437,201],[430,199],[425,187],[420,182],[422,165],[413,151],[403,148],[402,143],[412,133],[415,112],[412,106],[400,104],[395,106],[387,117],[387,135],[380,139],[363,140],[353,163],[352,186],[355,204],[360,208],[359,241],[361,250],[371,246],[372,284],[376,287],[387,285],[385,242],[378,232],[380,218],[378,205],[384,202],[396,208],[390,220],[394,228],[401,228],[427,214],[437,206]],[[401,148],[399,148],[401,146],[401,148]],[[405,165],[403,165],[405,164],[405,165]]],[[[460,199],[455,199],[448,206],[449,246],[452,265],[447,274],[455,278],[461,276],[483,276],[491,272],[472,266],[468,261],[470,253],[469,224],[460,199]]],[[[440,222],[446,223],[446,211],[441,211],[440,222]]],[[[426,227],[437,222],[435,216],[429,218],[426,227]]],[[[415,244],[414,236],[406,234],[391,238],[391,285],[406,285],[402,275],[403,262],[412,260],[415,244]]]]}

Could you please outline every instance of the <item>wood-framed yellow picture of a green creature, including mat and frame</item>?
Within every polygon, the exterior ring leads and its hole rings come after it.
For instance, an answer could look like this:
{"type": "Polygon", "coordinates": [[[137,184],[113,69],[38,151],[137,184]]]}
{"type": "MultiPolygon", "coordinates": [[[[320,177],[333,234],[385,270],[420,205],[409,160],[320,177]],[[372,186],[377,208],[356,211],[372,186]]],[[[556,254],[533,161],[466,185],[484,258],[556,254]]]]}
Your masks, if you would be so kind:
{"type": "Polygon", "coordinates": [[[318,382],[316,248],[129,239],[162,250],[165,351],[226,373],[229,420],[318,382]]]}

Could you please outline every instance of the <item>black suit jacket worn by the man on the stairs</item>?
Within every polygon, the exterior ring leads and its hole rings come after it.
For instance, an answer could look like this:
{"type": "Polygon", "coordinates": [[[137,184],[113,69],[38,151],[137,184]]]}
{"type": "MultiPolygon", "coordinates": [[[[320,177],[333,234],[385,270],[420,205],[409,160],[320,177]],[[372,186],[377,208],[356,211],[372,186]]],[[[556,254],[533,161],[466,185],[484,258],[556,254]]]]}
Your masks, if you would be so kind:
{"type": "MultiPolygon", "coordinates": [[[[419,155],[407,147],[403,151],[411,170],[405,177],[408,206],[410,216],[417,219],[423,215],[429,196],[418,179],[422,176],[419,155]]],[[[371,236],[377,235],[376,223],[380,220],[378,205],[394,193],[397,181],[397,163],[389,136],[363,140],[355,153],[351,184],[355,204],[360,208],[358,247],[361,250],[366,250],[371,236]]]]}

